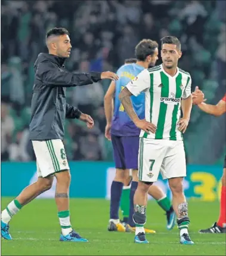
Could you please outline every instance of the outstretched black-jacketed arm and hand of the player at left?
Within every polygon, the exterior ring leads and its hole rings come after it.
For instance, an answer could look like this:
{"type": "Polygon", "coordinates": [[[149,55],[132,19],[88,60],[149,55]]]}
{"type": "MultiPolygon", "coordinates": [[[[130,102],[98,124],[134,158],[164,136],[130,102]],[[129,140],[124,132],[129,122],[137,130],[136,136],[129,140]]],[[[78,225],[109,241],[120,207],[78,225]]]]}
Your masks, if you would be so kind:
{"type": "Polygon", "coordinates": [[[107,72],[90,72],[90,73],[72,73],[58,69],[50,61],[39,63],[36,70],[36,76],[50,87],[76,87],[92,84],[101,79],[117,80],[115,73],[107,72]]]}

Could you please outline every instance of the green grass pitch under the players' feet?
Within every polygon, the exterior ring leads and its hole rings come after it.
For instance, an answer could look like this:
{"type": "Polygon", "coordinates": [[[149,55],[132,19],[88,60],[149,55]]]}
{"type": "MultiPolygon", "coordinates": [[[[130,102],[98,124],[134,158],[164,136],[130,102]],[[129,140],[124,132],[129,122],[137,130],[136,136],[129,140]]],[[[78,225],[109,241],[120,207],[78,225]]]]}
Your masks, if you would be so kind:
{"type": "MultiPolygon", "coordinates": [[[[12,198],[2,198],[4,209],[12,198]]],[[[194,245],[179,244],[178,229],[166,230],[166,217],[156,202],[148,202],[149,244],[134,244],[134,234],[108,232],[109,201],[71,199],[73,228],[88,243],[60,242],[60,225],[53,199],[36,199],[10,222],[14,240],[1,239],[1,255],[226,255],[225,234],[199,234],[218,218],[218,202],[188,202],[190,237],[194,245]]]]}

